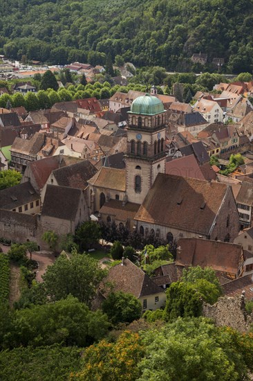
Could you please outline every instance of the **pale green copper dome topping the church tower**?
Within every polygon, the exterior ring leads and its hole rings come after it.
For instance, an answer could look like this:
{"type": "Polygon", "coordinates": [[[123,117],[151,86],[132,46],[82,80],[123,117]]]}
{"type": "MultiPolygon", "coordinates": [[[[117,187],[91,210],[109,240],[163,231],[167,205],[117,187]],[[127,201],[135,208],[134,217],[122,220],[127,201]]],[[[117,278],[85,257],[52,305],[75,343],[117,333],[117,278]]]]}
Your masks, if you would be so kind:
{"type": "Polygon", "coordinates": [[[139,115],[156,115],[165,112],[162,101],[156,96],[145,94],[144,96],[138,96],[131,104],[130,114],[139,115]]]}

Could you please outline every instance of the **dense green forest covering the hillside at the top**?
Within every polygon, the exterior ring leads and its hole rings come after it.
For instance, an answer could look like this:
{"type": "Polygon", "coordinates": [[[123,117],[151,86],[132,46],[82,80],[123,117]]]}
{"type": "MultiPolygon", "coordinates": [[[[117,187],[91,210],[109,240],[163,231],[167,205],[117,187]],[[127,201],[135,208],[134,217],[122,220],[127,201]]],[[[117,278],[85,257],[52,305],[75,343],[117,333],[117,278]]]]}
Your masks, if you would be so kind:
{"type": "Polygon", "coordinates": [[[253,0],[2,0],[0,52],[18,60],[105,64],[109,53],[138,67],[253,69],[253,0]],[[205,67],[193,53],[207,53],[205,67]]]}

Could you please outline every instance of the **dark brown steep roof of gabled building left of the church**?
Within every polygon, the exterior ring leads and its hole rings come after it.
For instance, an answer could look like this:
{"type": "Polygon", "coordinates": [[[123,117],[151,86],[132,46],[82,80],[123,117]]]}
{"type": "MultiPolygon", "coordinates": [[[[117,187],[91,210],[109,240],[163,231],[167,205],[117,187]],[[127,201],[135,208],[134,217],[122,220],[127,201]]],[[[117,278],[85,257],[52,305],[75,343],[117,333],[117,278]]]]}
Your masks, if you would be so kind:
{"type": "Polygon", "coordinates": [[[47,184],[41,215],[75,220],[82,190],[47,184]]]}

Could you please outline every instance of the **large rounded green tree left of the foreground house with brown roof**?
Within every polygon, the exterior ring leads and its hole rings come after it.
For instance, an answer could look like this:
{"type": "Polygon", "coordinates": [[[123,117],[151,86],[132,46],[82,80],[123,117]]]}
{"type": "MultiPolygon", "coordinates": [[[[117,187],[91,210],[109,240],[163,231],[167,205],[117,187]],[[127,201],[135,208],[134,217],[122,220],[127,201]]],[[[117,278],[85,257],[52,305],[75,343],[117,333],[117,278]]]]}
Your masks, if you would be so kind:
{"type": "Polygon", "coordinates": [[[43,279],[51,300],[66,298],[68,294],[72,294],[89,305],[105,275],[106,270],[100,267],[97,260],[73,251],[71,256],[61,254],[54,265],[47,268],[43,279]]]}

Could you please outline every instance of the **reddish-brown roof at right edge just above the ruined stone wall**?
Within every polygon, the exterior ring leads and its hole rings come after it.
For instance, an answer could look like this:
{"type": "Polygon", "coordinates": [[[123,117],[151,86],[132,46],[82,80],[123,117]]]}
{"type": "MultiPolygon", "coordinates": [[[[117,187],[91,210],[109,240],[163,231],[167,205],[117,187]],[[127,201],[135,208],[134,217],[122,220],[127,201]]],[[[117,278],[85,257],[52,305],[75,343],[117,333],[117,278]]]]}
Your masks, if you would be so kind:
{"type": "Polygon", "coordinates": [[[222,286],[223,292],[227,296],[241,295],[245,291],[246,299],[253,299],[253,274],[241,276],[222,286]]]}

